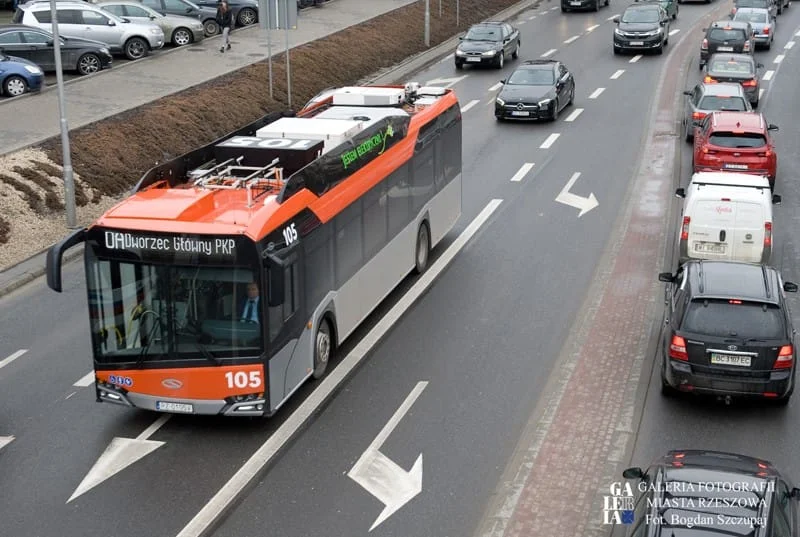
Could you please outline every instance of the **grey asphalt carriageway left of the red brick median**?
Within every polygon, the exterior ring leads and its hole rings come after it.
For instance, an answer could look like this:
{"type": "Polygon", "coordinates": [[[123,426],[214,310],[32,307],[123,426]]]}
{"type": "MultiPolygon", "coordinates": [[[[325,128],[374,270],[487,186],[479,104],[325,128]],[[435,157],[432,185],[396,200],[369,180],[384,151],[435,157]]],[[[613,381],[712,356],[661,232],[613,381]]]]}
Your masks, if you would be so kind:
{"type": "MultiPolygon", "coordinates": [[[[519,18],[523,58],[558,49],[553,57],[575,73],[576,102],[555,124],[495,122],[490,88],[515,62],[462,72],[445,59],[417,77],[464,77],[454,83],[465,110],[456,233],[490,199],[503,203],[217,536],[367,535],[382,505],[346,474],[420,381],[427,387],[381,451],[405,469],[422,453],[423,490],[371,535],[474,530],[583,303],[636,165],[663,57],[611,54],[607,19],[622,7],[519,18]],[[532,170],[512,182],[525,163],[532,170]],[[571,192],[599,201],[581,218],[555,201],[575,173],[571,192]]],[[[681,6],[673,29],[709,9],[681,6]]],[[[73,386],[91,366],[80,266],[64,280],[62,295],[38,281],[0,300],[0,359],[27,349],[0,366],[0,436],[16,436],[0,448],[0,486],[10,492],[0,504],[3,532],[174,537],[314,386],[271,420],[173,417],[150,437],[164,442],[154,453],[65,504],[114,437],[135,438],[157,416],[95,404],[90,388],[73,386]]]]}

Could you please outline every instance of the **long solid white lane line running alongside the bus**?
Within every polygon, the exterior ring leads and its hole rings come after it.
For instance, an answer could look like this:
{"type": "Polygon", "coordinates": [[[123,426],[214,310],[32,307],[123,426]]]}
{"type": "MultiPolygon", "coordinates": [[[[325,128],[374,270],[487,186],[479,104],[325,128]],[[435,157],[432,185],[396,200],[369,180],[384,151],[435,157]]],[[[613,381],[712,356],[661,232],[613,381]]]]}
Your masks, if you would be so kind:
{"type": "Polygon", "coordinates": [[[450,264],[481,226],[491,218],[501,203],[503,203],[503,200],[493,199],[484,207],[480,214],[461,232],[461,235],[456,238],[433,265],[428,267],[428,270],[419,277],[411,289],[397,301],[397,304],[378,321],[375,327],[364,336],[364,339],[350,351],[350,354],[325,377],[320,385],[300,404],[297,410],[286,418],[286,421],[283,422],[278,430],[270,435],[247,462],[239,468],[236,474],[189,521],[178,534],[178,537],[199,537],[210,525],[216,522],[248,483],[275,457],[275,454],[281,450],[283,445],[294,437],[319,406],[336,390],[337,386],[367,356],[372,347],[392,328],[406,310],[425,293],[434,279],[450,264]]]}

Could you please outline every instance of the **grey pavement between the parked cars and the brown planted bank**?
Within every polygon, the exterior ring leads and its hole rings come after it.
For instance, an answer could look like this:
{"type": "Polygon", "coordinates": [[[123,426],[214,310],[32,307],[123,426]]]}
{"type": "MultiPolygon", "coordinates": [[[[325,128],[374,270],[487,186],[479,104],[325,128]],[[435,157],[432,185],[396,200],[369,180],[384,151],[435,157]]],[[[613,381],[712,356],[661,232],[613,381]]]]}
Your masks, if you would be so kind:
{"type": "MultiPolygon", "coordinates": [[[[291,48],[321,39],[413,3],[415,0],[336,0],[320,9],[305,9],[297,29],[289,32],[291,48]]],[[[421,22],[420,22],[421,24],[421,22]]],[[[273,55],[283,52],[285,32],[272,31],[273,55]]],[[[202,84],[267,58],[266,32],[257,25],[231,34],[233,48],[221,54],[220,38],[177,49],[162,49],[124,67],[78,78],[65,84],[70,129],[119,114],[202,84]]],[[[0,155],[59,135],[55,87],[41,94],[0,101],[0,155]]]]}

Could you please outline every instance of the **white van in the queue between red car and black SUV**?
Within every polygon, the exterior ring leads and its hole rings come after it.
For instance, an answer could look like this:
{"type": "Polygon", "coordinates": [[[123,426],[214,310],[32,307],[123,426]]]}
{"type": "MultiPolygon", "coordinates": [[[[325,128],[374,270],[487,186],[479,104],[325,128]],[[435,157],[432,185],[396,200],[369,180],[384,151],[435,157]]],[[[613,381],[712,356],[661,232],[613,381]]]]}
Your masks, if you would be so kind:
{"type": "Polygon", "coordinates": [[[766,177],[700,172],[686,189],[679,238],[680,263],[713,259],[769,263],[772,254],[772,194],[766,177]]]}

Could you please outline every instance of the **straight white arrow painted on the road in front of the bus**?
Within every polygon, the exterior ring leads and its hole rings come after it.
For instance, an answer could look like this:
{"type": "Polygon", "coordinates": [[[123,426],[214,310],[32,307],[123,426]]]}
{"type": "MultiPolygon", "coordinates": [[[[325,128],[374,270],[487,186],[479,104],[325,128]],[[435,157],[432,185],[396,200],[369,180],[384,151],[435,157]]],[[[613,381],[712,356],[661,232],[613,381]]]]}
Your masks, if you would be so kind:
{"type": "Polygon", "coordinates": [[[172,414],[164,414],[136,438],[115,437],[83,478],[75,492],[72,493],[72,496],[69,497],[67,503],[163,446],[164,442],[148,440],[148,438],[153,436],[171,417],[172,414]]]}

